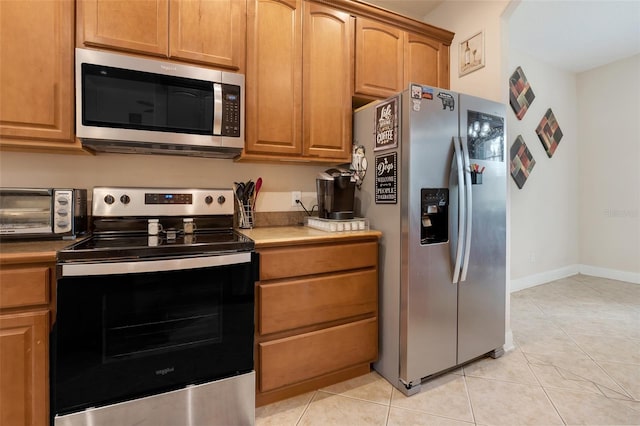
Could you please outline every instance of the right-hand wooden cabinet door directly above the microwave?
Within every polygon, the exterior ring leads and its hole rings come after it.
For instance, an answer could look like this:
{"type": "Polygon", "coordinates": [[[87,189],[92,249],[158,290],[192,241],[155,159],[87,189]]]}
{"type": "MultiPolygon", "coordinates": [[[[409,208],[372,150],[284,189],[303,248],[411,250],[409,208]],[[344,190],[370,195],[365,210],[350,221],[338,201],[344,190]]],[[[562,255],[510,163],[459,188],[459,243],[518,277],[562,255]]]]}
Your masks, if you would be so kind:
{"type": "Polygon", "coordinates": [[[244,0],[171,0],[169,56],[240,69],[245,54],[244,0]]]}

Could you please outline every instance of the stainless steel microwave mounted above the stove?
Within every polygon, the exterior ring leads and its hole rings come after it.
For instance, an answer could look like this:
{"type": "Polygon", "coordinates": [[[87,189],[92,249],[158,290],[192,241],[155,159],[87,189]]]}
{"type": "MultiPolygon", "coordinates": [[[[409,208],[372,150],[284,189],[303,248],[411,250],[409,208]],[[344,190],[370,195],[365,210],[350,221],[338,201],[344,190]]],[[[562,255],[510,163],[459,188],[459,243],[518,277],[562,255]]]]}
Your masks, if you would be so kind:
{"type": "Polygon", "coordinates": [[[244,75],[76,49],[76,135],[96,152],[234,158],[244,75]]]}

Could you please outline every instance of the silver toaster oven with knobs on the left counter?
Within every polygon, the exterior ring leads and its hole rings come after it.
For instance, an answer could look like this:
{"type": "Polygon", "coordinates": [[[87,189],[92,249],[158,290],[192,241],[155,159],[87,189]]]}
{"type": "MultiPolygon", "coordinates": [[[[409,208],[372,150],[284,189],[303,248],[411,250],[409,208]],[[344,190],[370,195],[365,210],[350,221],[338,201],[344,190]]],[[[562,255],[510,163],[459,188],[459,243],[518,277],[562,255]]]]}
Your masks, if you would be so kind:
{"type": "Polygon", "coordinates": [[[0,238],[72,239],[87,229],[86,189],[0,188],[0,238]]]}

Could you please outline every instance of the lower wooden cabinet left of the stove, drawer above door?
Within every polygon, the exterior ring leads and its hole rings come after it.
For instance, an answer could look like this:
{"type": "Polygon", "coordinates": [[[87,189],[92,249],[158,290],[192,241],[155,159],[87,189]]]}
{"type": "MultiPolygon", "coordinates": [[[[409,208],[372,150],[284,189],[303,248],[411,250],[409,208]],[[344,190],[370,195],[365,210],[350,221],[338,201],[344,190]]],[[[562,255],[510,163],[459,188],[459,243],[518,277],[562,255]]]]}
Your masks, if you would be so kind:
{"type": "Polygon", "coordinates": [[[50,274],[0,270],[0,426],[49,424],[50,274]]]}

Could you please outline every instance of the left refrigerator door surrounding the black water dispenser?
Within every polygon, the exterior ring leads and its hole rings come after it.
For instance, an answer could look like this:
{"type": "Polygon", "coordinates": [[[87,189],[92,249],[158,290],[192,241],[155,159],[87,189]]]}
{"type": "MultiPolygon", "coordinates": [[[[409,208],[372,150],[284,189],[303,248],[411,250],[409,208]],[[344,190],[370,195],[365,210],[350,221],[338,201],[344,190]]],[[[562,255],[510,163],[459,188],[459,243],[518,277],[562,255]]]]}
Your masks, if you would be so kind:
{"type": "MultiPolygon", "coordinates": [[[[405,384],[456,365],[457,285],[450,244],[458,218],[450,216],[444,243],[422,244],[420,226],[422,189],[448,189],[451,140],[457,134],[456,93],[427,87],[420,96],[414,90],[403,93],[400,379],[405,384]]],[[[450,202],[453,196],[449,193],[450,202]]]]}

